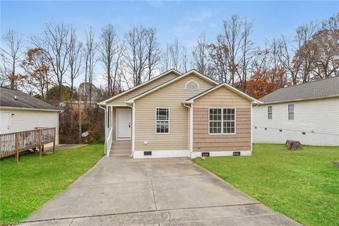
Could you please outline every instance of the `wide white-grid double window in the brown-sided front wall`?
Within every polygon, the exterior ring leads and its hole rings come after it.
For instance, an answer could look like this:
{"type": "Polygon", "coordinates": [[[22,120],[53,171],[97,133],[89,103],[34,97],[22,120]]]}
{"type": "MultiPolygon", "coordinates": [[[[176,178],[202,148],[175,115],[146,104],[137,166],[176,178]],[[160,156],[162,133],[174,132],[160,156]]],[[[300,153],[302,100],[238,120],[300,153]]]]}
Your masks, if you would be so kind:
{"type": "Polygon", "coordinates": [[[208,117],[210,134],[235,133],[235,108],[210,108],[208,117]]]}

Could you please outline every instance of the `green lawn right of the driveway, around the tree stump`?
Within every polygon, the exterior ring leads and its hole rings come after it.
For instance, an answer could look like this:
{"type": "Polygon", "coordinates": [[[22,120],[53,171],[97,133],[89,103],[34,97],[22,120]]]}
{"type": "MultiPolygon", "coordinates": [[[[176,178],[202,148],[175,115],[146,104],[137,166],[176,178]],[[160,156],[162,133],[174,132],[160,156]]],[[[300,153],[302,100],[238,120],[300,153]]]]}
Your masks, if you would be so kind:
{"type": "Polygon", "coordinates": [[[249,157],[197,158],[217,174],[271,209],[303,225],[339,224],[339,147],[256,144],[249,157]]]}

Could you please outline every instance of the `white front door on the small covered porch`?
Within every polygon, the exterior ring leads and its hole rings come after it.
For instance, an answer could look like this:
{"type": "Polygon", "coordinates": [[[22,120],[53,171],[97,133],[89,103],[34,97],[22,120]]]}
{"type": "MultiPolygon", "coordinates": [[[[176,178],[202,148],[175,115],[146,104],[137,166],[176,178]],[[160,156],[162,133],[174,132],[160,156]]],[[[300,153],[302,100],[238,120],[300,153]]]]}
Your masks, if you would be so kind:
{"type": "Polygon", "coordinates": [[[117,139],[131,139],[132,134],[132,110],[117,109],[117,139]]]}

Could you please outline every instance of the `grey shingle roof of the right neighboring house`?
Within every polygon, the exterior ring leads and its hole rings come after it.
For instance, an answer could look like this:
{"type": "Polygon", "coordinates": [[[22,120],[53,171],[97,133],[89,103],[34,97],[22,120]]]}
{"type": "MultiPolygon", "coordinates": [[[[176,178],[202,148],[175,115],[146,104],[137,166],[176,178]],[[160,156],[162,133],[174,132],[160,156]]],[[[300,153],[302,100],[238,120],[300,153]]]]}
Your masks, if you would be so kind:
{"type": "Polygon", "coordinates": [[[280,88],[259,99],[264,104],[339,96],[339,77],[280,88]]]}

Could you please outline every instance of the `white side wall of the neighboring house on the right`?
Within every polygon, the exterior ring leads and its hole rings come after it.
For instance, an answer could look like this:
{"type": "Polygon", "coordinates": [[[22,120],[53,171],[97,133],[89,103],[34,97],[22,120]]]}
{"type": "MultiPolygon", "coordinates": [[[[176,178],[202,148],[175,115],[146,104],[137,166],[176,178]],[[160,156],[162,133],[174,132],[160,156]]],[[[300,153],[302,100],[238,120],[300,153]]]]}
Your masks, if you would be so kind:
{"type": "Polygon", "coordinates": [[[255,143],[285,143],[290,139],[307,145],[339,145],[338,97],[274,104],[272,119],[268,119],[267,106],[253,107],[255,143]],[[289,104],[295,105],[294,120],[288,120],[289,104]]]}

